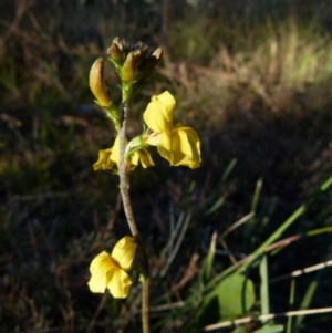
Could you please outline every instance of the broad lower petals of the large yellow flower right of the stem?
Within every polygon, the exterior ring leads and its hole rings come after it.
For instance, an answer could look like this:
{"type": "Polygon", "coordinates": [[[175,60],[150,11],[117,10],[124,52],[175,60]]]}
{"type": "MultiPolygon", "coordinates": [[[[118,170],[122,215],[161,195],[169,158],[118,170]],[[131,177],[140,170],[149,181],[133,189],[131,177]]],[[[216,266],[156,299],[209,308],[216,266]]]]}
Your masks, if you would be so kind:
{"type": "Polygon", "coordinates": [[[169,134],[160,135],[158,153],[174,166],[184,165],[195,169],[201,162],[197,133],[190,127],[181,127],[180,124],[169,134]]]}

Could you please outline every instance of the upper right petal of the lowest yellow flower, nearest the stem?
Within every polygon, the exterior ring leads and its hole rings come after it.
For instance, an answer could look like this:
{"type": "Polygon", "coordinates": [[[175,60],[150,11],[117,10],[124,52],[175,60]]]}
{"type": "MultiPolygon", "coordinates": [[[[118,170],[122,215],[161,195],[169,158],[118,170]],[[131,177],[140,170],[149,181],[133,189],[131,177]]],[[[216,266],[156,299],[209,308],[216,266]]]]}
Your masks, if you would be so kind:
{"type": "Polygon", "coordinates": [[[133,237],[125,236],[114,247],[111,257],[116,260],[124,270],[132,268],[137,244],[133,237]]]}

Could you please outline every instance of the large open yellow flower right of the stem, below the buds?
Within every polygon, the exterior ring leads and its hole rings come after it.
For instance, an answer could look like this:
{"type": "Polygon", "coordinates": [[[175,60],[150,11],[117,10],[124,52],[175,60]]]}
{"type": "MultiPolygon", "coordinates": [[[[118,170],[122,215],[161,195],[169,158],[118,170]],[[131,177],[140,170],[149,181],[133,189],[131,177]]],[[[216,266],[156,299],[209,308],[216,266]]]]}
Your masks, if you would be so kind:
{"type": "Polygon", "coordinates": [[[152,97],[143,115],[152,129],[146,132],[145,142],[157,146],[158,153],[170,165],[185,165],[195,169],[201,162],[199,137],[191,127],[173,125],[174,107],[175,98],[168,91],[152,97]]]}

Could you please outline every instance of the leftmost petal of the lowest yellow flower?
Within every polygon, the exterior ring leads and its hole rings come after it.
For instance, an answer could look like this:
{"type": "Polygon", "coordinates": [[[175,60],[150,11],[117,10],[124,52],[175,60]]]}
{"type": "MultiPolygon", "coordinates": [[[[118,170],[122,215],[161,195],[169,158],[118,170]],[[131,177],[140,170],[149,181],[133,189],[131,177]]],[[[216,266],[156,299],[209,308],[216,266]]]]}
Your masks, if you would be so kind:
{"type": "Polygon", "coordinates": [[[90,264],[91,279],[87,282],[90,290],[103,293],[110,283],[110,272],[115,269],[118,268],[106,251],[96,256],[90,264]]]}

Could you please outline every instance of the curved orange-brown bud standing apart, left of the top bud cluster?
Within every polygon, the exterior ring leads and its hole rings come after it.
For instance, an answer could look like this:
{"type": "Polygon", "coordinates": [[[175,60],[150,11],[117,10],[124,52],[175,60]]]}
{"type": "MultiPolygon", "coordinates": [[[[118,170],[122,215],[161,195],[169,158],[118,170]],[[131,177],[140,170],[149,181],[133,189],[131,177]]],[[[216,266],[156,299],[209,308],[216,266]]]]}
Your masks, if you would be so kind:
{"type": "Polygon", "coordinates": [[[98,58],[90,70],[89,85],[101,106],[110,105],[110,97],[104,82],[104,61],[98,58]]]}

